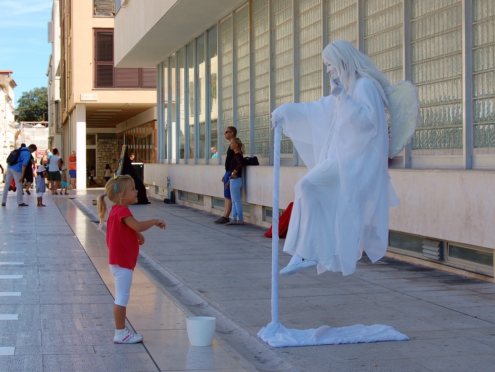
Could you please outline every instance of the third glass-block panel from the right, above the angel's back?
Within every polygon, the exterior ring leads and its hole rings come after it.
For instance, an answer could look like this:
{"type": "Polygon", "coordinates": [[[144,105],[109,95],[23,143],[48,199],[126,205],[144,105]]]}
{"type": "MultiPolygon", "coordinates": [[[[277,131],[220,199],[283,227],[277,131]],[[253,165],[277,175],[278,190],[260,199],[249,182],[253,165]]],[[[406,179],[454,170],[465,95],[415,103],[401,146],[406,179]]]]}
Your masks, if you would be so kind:
{"type": "Polygon", "coordinates": [[[403,80],[402,0],[364,0],[364,53],[389,78],[403,80]]]}

